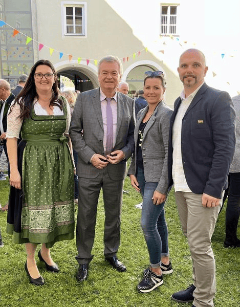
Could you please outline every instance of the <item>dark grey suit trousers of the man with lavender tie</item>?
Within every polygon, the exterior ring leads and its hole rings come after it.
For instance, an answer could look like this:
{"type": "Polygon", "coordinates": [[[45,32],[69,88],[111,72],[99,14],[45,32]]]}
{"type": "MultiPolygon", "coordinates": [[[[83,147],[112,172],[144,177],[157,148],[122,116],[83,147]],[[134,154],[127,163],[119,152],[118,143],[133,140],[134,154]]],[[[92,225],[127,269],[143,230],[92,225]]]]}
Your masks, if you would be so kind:
{"type": "Polygon", "coordinates": [[[92,247],[95,237],[97,205],[102,188],[105,210],[104,255],[115,256],[120,245],[120,224],[123,180],[112,180],[107,167],[96,178],[81,178],[78,181],[78,214],[76,245],[79,264],[89,264],[93,259],[92,247]]]}

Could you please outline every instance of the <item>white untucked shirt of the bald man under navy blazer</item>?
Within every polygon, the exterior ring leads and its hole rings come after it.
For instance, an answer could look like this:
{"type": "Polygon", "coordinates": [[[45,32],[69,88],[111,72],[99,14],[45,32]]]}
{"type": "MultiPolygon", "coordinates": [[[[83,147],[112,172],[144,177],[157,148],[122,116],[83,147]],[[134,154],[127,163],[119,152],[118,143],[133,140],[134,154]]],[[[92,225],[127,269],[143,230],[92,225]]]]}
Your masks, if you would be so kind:
{"type": "MultiPolygon", "coordinates": [[[[204,83],[204,82],[203,82],[204,83]]],[[[174,190],[182,191],[182,192],[191,192],[183,170],[183,161],[182,161],[182,150],[181,150],[181,135],[182,135],[182,120],[192,102],[194,96],[198,93],[200,87],[203,83],[198,87],[197,90],[192,92],[187,98],[185,97],[184,90],[182,91],[180,98],[182,99],[182,103],[178,108],[178,112],[174,119],[174,123],[172,125],[172,179],[174,184],[174,190]]]]}

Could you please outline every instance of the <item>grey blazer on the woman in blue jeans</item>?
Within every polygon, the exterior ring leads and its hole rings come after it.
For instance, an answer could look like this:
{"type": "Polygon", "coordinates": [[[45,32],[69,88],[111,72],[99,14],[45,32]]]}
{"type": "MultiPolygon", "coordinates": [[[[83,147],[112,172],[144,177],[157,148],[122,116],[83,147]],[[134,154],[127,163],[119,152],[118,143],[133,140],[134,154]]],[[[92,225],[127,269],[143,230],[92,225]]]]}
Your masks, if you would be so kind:
{"type": "MultiPolygon", "coordinates": [[[[136,175],[137,162],[135,157],[137,156],[138,129],[147,111],[148,106],[141,109],[137,115],[134,131],[135,152],[128,169],[128,175],[136,175]]],[[[162,194],[167,194],[168,190],[167,150],[171,114],[172,110],[161,101],[144,129],[142,140],[145,180],[147,182],[158,182],[156,190],[162,194]]]]}

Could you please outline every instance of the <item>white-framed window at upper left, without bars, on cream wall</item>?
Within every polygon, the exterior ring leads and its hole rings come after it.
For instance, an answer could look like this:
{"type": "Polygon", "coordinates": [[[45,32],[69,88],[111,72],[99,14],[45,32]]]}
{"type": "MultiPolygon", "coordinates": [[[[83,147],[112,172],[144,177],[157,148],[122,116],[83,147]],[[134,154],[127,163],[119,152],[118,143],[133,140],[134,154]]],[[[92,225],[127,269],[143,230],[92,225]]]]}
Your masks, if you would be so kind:
{"type": "Polygon", "coordinates": [[[63,34],[86,35],[86,3],[62,2],[63,34]]]}

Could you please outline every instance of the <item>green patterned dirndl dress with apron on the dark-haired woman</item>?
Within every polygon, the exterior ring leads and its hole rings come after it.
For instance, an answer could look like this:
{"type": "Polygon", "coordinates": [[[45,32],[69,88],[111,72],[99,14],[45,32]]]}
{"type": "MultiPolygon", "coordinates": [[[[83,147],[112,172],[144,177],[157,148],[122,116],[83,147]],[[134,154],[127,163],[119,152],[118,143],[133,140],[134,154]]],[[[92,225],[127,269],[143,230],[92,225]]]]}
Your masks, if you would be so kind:
{"type": "MultiPolygon", "coordinates": [[[[66,102],[65,102],[66,103],[66,102]]],[[[74,238],[73,162],[63,136],[67,109],[63,115],[31,117],[21,126],[18,168],[22,190],[10,188],[7,233],[14,243],[45,243],[74,238]]]]}

